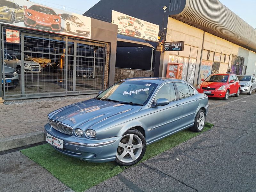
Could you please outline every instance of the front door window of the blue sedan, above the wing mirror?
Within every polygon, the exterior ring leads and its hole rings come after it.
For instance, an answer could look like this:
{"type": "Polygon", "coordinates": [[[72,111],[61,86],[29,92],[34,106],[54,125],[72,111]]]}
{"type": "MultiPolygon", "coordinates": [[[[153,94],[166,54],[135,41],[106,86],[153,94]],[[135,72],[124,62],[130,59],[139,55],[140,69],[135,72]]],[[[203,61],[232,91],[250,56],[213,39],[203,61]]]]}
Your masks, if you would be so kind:
{"type": "Polygon", "coordinates": [[[176,100],[176,94],[173,83],[167,83],[160,87],[160,89],[156,93],[155,102],[160,98],[168,99],[170,102],[176,100]]]}

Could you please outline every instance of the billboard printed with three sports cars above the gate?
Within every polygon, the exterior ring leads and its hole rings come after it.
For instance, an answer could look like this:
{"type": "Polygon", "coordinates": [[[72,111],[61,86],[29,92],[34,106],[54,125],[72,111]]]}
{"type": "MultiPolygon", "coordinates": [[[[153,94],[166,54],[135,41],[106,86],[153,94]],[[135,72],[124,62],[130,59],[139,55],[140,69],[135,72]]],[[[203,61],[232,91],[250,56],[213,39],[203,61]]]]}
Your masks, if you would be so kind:
{"type": "Polygon", "coordinates": [[[91,38],[91,18],[25,0],[0,0],[0,23],[91,38]]]}

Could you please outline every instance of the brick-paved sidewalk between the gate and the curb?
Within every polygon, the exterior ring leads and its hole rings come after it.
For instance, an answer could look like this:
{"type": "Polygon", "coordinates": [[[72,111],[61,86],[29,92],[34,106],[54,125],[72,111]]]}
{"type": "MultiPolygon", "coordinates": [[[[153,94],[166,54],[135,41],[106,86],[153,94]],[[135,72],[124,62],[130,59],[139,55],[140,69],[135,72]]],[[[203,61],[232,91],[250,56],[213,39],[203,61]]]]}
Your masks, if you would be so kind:
{"type": "Polygon", "coordinates": [[[0,140],[15,135],[43,131],[48,113],[92,97],[95,95],[7,101],[0,105],[0,140]]]}

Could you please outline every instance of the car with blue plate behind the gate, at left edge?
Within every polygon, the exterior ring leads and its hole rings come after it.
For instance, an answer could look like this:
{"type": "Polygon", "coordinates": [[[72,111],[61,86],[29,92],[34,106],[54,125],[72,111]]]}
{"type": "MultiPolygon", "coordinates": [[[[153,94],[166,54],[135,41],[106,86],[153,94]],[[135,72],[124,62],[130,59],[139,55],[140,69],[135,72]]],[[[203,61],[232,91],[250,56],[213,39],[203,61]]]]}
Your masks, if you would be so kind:
{"type": "Polygon", "coordinates": [[[8,89],[15,89],[18,86],[19,75],[14,68],[4,65],[4,75],[2,68],[2,84],[4,84],[5,88],[8,89]]]}

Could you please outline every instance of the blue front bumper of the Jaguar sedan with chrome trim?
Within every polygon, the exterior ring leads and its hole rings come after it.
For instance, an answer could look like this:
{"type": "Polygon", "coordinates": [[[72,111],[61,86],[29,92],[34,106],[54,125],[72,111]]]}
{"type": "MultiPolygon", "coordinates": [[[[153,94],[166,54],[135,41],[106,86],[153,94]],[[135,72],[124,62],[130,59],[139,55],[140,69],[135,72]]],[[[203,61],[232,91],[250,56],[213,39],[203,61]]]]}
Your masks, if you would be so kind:
{"type": "Polygon", "coordinates": [[[107,139],[88,139],[86,136],[77,137],[75,134],[67,135],[53,129],[49,124],[44,126],[45,138],[49,133],[53,137],[63,140],[63,148],[53,147],[55,150],[67,156],[75,157],[84,161],[102,163],[114,161],[116,150],[121,136],[107,139]]]}

